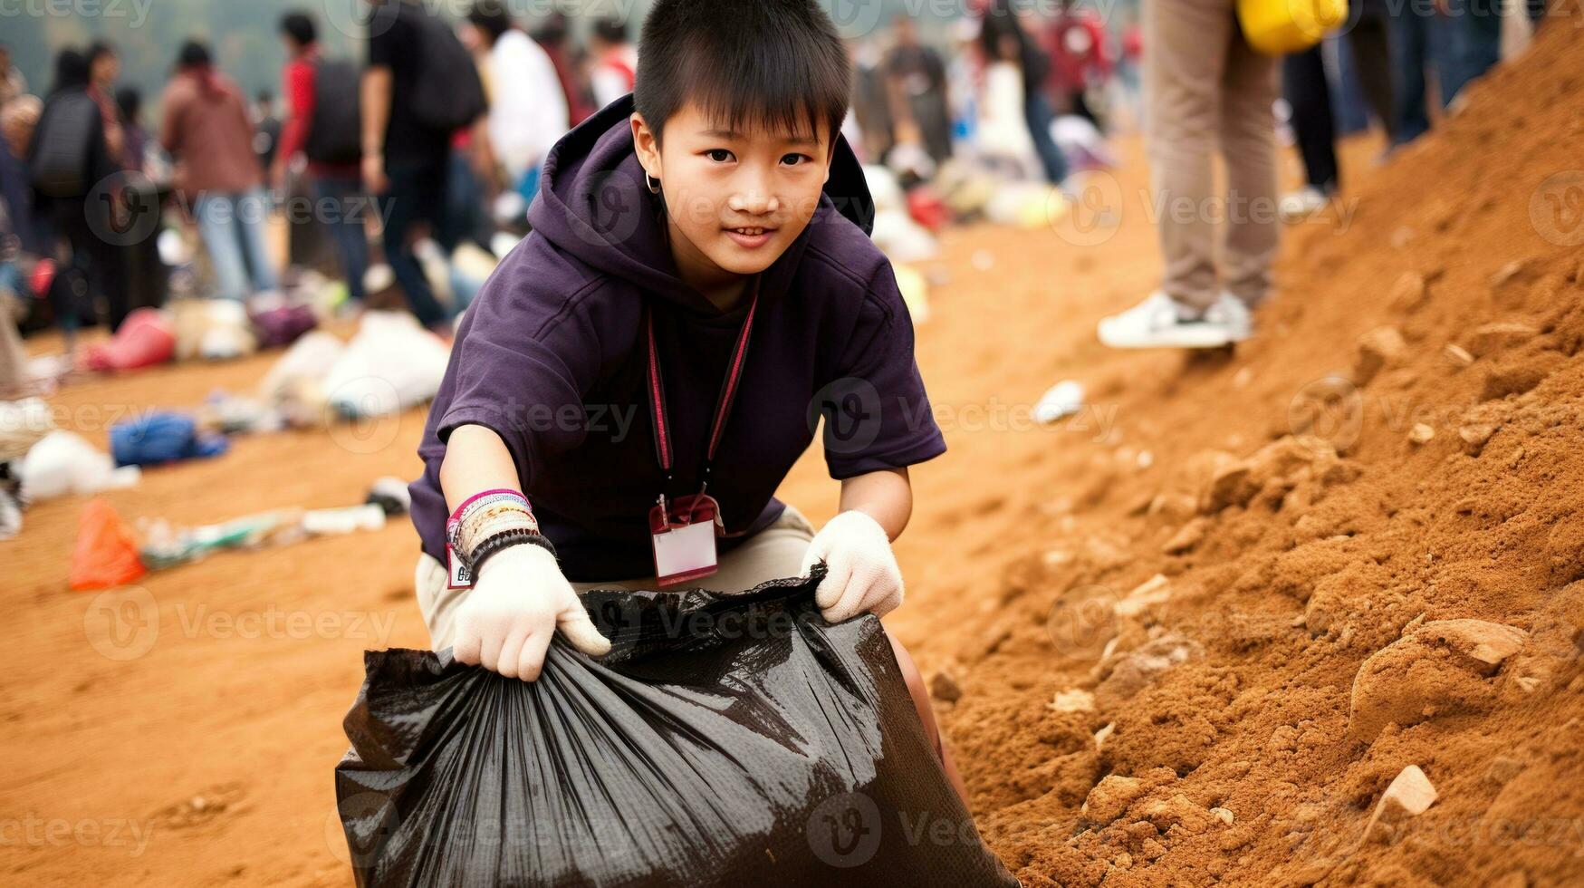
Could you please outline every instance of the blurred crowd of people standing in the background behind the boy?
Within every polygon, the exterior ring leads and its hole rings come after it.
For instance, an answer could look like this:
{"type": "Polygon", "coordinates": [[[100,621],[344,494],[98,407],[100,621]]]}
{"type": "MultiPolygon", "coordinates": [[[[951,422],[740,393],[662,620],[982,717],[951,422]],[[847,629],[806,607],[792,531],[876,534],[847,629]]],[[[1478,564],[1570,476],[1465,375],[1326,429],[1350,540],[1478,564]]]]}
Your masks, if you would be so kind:
{"type": "MultiPolygon", "coordinates": [[[[1234,0],[1115,6],[1110,19],[1085,3],[1033,14],[969,0],[955,22],[897,17],[849,43],[844,132],[878,203],[890,195],[904,216],[878,224],[876,239],[906,260],[928,249],[920,228],[950,219],[1049,224],[1076,171],[1114,163],[1107,135],[1134,128],[1158,193],[1207,192],[1215,152],[1242,170],[1234,179],[1258,179],[1247,190],[1272,190],[1278,68],[1307,170],[1280,216],[1300,219],[1340,187],[1338,133],[1373,119],[1389,144],[1411,141],[1441,113],[1432,95],[1451,106],[1498,60],[1503,19],[1478,3],[1362,0],[1345,36],[1281,60],[1248,49],[1234,0]],[[1220,124],[1204,117],[1213,108],[1220,124]],[[1228,122],[1237,114],[1247,121],[1228,122]]],[[[366,11],[356,57],[326,52],[310,11],[287,14],[279,97],[246,95],[206,43],[184,43],[157,121],[109,43],[60,49],[36,94],[0,48],[0,387],[17,379],[6,369],[17,328],[59,327],[70,350],[78,328],[119,330],[171,297],[249,312],[312,300],[337,314],[398,300],[448,333],[526,235],[550,147],[632,89],[638,22],[523,21],[502,0],[455,22],[410,0],[366,11]]],[[[1540,2],[1525,13],[1538,21],[1540,2]]],[[[1201,228],[1163,232],[1167,285],[1153,314],[1172,309],[1164,297],[1198,322],[1223,300],[1201,228]]],[[[1245,306],[1262,298],[1275,244],[1251,232],[1231,235],[1248,265],[1229,273],[1245,306]]],[[[1123,333],[1112,339],[1133,344],[1137,330],[1123,333]]]]}

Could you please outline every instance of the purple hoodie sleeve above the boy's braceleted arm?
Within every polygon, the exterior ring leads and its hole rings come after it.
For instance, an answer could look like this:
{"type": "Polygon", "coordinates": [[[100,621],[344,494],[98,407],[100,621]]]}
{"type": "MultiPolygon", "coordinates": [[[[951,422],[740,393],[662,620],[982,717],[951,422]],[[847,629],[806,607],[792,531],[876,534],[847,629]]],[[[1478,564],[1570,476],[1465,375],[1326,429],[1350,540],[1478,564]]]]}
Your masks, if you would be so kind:
{"type": "Polygon", "coordinates": [[[474,300],[429,422],[439,454],[461,425],[493,430],[532,496],[542,458],[583,442],[583,393],[599,373],[600,338],[572,311],[596,284],[558,295],[531,279],[527,265],[507,262],[474,300]]]}

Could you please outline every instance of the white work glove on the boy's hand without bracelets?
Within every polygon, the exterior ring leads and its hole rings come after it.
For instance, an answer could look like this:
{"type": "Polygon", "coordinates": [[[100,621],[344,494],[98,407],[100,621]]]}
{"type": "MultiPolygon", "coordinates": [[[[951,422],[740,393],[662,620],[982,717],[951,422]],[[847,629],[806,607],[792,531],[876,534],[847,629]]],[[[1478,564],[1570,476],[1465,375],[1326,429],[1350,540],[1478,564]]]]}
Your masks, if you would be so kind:
{"type": "Polygon", "coordinates": [[[803,576],[824,561],[825,579],[814,604],[827,622],[868,612],[884,617],[901,604],[901,568],[885,528],[863,512],[841,512],[825,523],[803,557],[803,576]]]}

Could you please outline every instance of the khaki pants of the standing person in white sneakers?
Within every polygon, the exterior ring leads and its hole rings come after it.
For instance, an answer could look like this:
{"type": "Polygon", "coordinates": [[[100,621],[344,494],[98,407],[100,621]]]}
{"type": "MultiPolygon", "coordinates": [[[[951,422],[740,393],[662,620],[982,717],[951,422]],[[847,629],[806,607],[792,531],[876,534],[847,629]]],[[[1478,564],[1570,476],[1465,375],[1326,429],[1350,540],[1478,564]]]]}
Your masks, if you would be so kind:
{"type": "Polygon", "coordinates": [[[1253,306],[1270,289],[1277,251],[1277,60],[1237,27],[1236,0],[1144,0],[1145,135],[1159,212],[1161,289],[1209,308],[1221,284],[1253,306]],[[1213,201],[1212,157],[1228,195],[1213,201]],[[1215,230],[1224,219],[1223,276],[1215,230]]]}

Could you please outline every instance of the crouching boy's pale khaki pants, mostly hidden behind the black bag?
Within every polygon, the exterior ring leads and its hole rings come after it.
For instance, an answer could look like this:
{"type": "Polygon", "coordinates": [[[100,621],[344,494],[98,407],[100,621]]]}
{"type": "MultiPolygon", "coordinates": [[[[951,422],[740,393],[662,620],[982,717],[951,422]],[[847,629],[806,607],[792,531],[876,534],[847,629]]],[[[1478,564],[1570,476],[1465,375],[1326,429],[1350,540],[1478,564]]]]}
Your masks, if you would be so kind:
{"type": "MultiPolygon", "coordinates": [[[[787,506],[786,512],[765,530],[751,536],[737,549],[721,555],[721,569],[705,577],[706,588],[725,593],[748,591],[767,580],[795,577],[803,572],[803,553],[814,539],[814,525],[803,512],[787,506]]],[[[418,609],[429,626],[432,650],[451,647],[456,634],[456,609],[469,588],[447,588],[445,565],[425,553],[418,557],[413,585],[418,590],[418,609]]],[[[596,588],[656,590],[654,577],[607,582],[575,582],[572,588],[583,595],[596,588]]]]}

